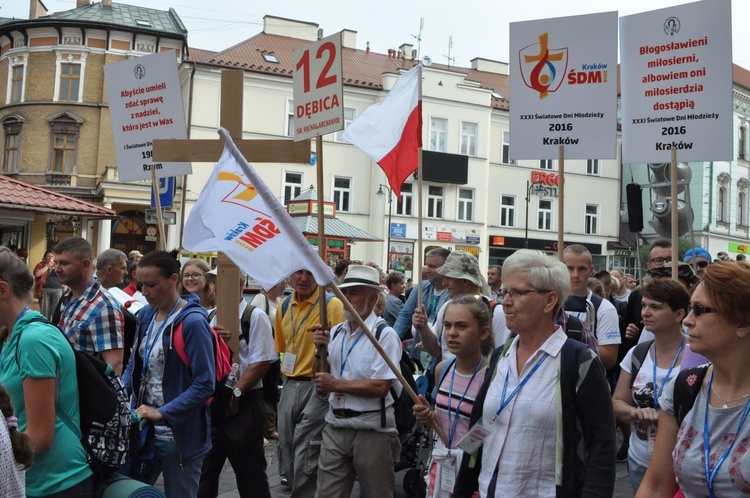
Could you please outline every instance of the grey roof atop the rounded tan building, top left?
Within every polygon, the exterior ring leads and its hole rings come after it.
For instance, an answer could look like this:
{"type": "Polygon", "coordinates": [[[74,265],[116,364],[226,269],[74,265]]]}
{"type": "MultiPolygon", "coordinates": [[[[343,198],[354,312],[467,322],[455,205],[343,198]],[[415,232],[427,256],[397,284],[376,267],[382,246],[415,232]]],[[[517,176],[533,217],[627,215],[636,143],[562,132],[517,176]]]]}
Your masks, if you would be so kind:
{"type": "Polygon", "coordinates": [[[30,28],[73,22],[101,25],[101,27],[115,27],[142,33],[153,32],[160,36],[187,37],[187,28],[172,8],[165,11],[114,2],[111,6],[105,6],[103,2],[90,3],[77,9],[54,12],[37,19],[0,20],[0,26],[6,29],[15,25],[30,28]]]}

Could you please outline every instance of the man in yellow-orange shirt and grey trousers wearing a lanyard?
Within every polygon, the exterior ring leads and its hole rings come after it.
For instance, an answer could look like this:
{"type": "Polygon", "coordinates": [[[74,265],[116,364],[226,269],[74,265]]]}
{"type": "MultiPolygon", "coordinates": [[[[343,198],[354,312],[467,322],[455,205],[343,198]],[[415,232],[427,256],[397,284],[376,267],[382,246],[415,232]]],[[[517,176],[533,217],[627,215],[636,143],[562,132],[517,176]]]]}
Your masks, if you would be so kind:
{"type": "MultiPolygon", "coordinates": [[[[279,473],[291,485],[292,498],[313,498],[317,489],[318,455],[322,441],[328,398],[315,391],[313,362],[315,344],[310,329],[320,324],[318,295],[322,292],[312,273],[299,270],[291,275],[294,292],[276,313],[276,351],[284,353],[281,371],[286,376],[278,408],[279,473]]],[[[343,304],[326,300],[328,324],[344,321],[343,304]]]]}

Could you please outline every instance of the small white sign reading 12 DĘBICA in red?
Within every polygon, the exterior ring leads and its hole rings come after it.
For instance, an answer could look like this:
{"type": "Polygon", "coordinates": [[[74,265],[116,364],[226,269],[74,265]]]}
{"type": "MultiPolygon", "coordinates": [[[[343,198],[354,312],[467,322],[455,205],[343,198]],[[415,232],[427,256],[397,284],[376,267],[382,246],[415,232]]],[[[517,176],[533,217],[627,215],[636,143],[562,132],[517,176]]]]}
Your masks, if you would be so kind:
{"type": "Polygon", "coordinates": [[[294,141],[344,129],[341,33],[292,52],[294,141]]]}

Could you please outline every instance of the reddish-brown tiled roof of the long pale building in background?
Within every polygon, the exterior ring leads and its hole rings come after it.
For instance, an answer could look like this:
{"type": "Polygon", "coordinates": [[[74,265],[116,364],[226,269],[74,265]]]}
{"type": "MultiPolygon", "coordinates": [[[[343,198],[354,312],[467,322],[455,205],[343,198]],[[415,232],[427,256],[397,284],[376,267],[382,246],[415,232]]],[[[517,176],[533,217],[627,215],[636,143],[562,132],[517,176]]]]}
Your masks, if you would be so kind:
{"type": "MultiPolygon", "coordinates": [[[[309,43],[309,40],[259,33],[224,51],[201,59],[193,57],[193,60],[204,64],[272,73],[291,78],[294,70],[292,51],[309,43]],[[279,63],[267,62],[263,58],[264,53],[274,54],[279,63]]],[[[418,63],[416,60],[402,60],[386,54],[353,48],[343,48],[341,59],[345,85],[375,90],[383,89],[382,75],[384,73],[395,73],[399,69],[408,70],[418,63]]],[[[432,64],[430,68],[465,74],[466,79],[476,81],[480,87],[492,90],[504,97],[502,99],[492,97],[493,107],[508,108],[507,97],[510,90],[508,75],[437,63],[432,64]]]]}

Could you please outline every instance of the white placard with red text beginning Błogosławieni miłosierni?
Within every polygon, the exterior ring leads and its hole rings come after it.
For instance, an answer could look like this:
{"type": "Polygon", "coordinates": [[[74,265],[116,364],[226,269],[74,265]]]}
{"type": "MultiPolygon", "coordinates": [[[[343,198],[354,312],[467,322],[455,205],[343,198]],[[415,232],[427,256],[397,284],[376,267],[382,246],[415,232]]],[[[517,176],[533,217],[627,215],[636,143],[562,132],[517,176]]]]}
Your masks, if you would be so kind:
{"type": "Polygon", "coordinates": [[[620,19],[622,160],[731,161],[730,0],[620,19]]]}

